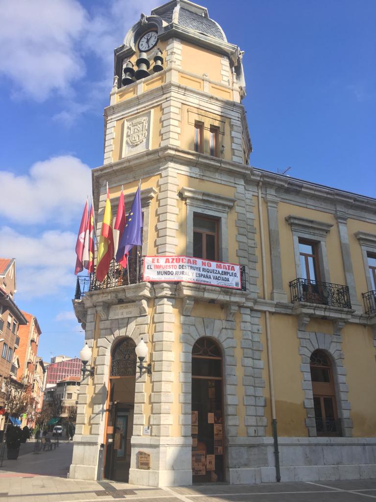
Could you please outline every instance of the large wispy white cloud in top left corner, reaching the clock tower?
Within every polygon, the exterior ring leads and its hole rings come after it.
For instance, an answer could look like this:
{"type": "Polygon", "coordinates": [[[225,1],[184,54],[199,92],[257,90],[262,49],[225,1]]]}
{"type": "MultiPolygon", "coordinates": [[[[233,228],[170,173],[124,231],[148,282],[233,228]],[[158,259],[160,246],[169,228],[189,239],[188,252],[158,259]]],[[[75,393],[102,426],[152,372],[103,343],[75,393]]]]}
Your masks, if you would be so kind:
{"type": "MultiPolygon", "coordinates": [[[[0,73],[11,79],[18,98],[44,101],[57,92],[75,100],[74,83],[85,77],[87,57],[94,54],[110,88],[114,48],[141,12],[148,15],[155,5],[112,0],[93,7],[90,16],[77,0],[0,0],[0,73]]],[[[70,119],[64,112],[58,118],[70,119]]]]}

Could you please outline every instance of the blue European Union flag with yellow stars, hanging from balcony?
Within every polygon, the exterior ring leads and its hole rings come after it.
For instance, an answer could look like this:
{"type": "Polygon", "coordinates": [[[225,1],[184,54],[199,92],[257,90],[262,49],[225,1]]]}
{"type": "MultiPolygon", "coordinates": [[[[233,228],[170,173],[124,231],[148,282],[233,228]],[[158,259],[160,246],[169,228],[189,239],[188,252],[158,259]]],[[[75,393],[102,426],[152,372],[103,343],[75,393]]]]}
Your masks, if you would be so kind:
{"type": "Polygon", "coordinates": [[[141,211],[141,197],[140,187],[137,188],[136,195],[134,196],[132,206],[128,213],[127,222],[123,235],[120,237],[119,246],[116,253],[116,261],[121,263],[120,260],[129,253],[133,246],[140,246],[142,244],[142,211],[141,211]]]}

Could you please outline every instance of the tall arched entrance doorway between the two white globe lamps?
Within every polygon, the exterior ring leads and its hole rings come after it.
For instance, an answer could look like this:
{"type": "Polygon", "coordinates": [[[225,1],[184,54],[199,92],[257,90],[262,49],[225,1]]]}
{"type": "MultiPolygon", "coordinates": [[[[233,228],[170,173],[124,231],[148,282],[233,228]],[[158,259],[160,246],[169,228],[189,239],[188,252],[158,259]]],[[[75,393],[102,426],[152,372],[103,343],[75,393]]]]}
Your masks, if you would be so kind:
{"type": "Polygon", "coordinates": [[[121,339],[112,349],[104,475],[128,481],[136,383],[136,344],[121,339]]]}

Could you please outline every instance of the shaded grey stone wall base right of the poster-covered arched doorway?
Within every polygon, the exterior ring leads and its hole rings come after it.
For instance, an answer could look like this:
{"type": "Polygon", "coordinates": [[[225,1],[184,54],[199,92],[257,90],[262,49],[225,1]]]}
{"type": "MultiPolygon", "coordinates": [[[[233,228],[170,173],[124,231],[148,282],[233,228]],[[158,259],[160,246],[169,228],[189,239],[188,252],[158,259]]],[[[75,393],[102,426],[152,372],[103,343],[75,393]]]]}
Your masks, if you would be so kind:
{"type": "MultiPolygon", "coordinates": [[[[276,481],[273,438],[229,447],[230,484],[276,481]]],[[[279,438],[281,481],[376,478],[375,438],[279,438]]]]}

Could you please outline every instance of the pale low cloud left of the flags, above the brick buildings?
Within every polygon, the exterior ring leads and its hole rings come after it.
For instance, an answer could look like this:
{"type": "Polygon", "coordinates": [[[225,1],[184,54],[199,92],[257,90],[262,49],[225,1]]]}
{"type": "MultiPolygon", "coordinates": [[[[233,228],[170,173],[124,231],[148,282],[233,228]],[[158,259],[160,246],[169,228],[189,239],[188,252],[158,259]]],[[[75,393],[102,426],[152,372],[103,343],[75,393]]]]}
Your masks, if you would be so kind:
{"type": "Polygon", "coordinates": [[[75,287],[73,232],[50,230],[26,236],[12,228],[0,229],[0,256],[16,258],[17,298],[36,298],[61,294],[61,288],[75,287]]]}

